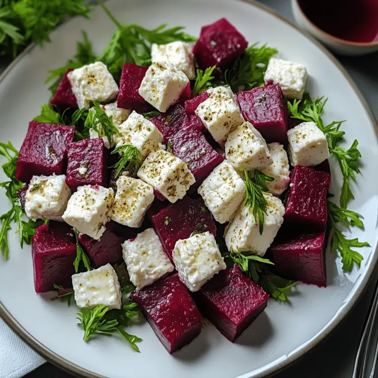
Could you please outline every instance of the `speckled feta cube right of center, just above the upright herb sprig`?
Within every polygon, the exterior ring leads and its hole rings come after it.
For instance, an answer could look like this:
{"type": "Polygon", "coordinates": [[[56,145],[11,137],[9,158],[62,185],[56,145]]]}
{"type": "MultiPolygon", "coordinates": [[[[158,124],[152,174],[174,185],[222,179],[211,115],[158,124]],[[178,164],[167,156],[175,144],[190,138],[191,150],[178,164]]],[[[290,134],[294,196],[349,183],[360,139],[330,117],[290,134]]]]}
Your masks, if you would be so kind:
{"type": "Polygon", "coordinates": [[[239,171],[264,168],[273,162],[265,139],[249,122],[228,135],[224,148],[226,159],[239,171]]]}

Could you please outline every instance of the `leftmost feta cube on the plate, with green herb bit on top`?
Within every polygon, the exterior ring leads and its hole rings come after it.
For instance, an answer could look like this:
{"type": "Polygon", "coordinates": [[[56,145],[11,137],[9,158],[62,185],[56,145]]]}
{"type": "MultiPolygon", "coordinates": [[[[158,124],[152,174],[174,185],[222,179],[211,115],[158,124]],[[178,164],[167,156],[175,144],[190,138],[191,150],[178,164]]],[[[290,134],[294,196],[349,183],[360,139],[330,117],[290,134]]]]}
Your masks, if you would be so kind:
{"type": "Polygon", "coordinates": [[[25,194],[25,213],[34,220],[63,221],[70,195],[65,175],[33,176],[25,194]]]}

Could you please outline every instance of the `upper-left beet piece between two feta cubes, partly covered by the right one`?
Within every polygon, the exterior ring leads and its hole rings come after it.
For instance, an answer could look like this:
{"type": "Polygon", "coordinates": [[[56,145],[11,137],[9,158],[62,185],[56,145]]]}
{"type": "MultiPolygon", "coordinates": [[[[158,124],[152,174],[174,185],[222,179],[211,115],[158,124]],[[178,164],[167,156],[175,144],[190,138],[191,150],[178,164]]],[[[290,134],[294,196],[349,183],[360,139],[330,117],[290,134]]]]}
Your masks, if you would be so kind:
{"type": "Polygon", "coordinates": [[[132,109],[138,113],[148,112],[152,106],[139,95],[139,87],[148,67],[126,63],[121,72],[120,90],[117,106],[123,109],[132,109]]]}

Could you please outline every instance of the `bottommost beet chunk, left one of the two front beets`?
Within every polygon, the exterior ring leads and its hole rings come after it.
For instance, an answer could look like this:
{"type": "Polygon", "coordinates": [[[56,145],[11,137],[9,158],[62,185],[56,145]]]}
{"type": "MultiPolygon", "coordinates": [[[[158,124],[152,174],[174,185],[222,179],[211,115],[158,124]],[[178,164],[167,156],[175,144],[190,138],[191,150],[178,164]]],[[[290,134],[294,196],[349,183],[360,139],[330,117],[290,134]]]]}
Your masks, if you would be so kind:
{"type": "Polygon", "coordinates": [[[201,314],[178,273],[131,293],[131,298],[169,353],[189,344],[201,332],[201,314]]]}

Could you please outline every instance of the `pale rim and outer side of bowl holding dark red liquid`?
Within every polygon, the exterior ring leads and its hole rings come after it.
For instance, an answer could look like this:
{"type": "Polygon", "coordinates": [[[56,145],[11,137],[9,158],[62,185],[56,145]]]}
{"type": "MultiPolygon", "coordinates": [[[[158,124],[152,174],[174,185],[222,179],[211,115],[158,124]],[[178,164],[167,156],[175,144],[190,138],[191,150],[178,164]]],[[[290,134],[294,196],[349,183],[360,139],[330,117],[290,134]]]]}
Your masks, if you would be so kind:
{"type": "Polygon", "coordinates": [[[378,42],[351,42],[345,39],[337,38],[319,29],[303,13],[298,0],[291,0],[291,6],[294,18],[298,25],[310,34],[314,35],[315,38],[317,38],[336,54],[364,55],[378,51],[378,42]]]}

